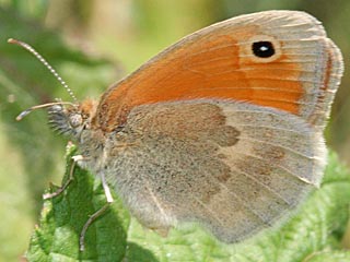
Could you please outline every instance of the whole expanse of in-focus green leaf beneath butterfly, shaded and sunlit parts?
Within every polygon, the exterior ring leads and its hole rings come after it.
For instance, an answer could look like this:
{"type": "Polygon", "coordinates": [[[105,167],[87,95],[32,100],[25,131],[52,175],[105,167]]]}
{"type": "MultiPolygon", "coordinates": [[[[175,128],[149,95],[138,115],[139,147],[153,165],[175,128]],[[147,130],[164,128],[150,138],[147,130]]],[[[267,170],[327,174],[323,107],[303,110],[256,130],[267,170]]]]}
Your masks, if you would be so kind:
{"type": "Polygon", "coordinates": [[[350,251],[341,250],[349,219],[350,176],[335,154],[329,157],[320,189],[311,193],[293,218],[280,228],[237,245],[221,243],[199,226],[172,229],[163,238],[143,228],[135,218],[130,222],[128,212],[114,196],[116,202],[108,213],[90,226],[86,249],[80,252],[81,228],[89,215],[104,205],[105,196],[101,183],[77,167],[68,189],[44,201],[40,226],[35,229],[27,251],[28,260],[350,261],[350,251]]]}

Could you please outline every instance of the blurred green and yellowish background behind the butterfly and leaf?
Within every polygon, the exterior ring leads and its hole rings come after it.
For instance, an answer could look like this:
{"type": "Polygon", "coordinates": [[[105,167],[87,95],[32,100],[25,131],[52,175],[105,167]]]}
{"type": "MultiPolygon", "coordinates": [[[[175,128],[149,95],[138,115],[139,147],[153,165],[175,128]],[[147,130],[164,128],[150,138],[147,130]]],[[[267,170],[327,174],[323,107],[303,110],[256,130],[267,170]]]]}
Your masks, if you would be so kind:
{"type": "MultiPolygon", "coordinates": [[[[350,1],[338,0],[0,0],[0,261],[18,261],[38,217],[42,193],[65,169],[66,140],[51,132],[44,111],[21,122],[21,110],[66,91],[32,56],[7,44],[33,45],[75,95],[98,98],[107,86],[180,37],[238,14],[304,10],[322,21],[350,53],[350,1]]],[[[350,75],[332,107],[327,143],[350,163],[350,75]]]]}

